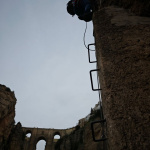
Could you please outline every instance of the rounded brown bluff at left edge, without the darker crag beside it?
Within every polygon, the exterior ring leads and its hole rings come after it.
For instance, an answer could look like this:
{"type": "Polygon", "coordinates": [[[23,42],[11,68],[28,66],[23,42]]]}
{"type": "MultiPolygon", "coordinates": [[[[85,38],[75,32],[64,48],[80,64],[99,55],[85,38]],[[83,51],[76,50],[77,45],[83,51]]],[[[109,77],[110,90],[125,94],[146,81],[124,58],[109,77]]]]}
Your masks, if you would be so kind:
{"type": "Polygon", "coordinates": [[[14,92],[0,85],[0,150],[3,150],[14,126],[16,98],[14,92]]]}

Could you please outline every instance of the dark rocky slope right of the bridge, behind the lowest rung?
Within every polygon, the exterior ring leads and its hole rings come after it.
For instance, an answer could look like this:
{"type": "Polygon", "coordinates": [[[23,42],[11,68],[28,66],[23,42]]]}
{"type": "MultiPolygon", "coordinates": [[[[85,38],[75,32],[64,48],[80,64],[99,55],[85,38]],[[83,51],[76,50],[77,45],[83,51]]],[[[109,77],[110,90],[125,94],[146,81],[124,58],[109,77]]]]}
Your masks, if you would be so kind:
{"type": "MultiPolygon", "coordinates": [[[[92,117],[84,127],[76,126],[75,131],[70,135],[67,135],[60,139],[55,146],[55,150],[104,150],[102,142],[94,142],[91,132],[91,121],[100,120],[98,117],[92,117]]],[[[94,126],[95,137],[96,139],[100,138],[101,126],[96,124],[94,126]]],[[[104,143],[106,144],[106,143],[104,143]]]]}

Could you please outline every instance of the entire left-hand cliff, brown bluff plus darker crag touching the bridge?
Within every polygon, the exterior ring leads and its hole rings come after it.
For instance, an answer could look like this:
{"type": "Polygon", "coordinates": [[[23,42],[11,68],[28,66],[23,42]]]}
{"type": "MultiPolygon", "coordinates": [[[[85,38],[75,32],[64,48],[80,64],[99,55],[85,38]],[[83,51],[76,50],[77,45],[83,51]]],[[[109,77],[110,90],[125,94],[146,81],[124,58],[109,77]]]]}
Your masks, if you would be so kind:
{"type": "Polygon", "coordinates": [[[0,85],[0,150],[22,150],[22,126],[14,125],[16,98],[14,92],[0,85]]]}

